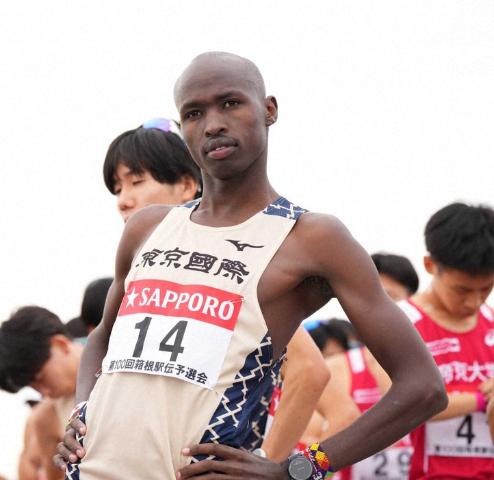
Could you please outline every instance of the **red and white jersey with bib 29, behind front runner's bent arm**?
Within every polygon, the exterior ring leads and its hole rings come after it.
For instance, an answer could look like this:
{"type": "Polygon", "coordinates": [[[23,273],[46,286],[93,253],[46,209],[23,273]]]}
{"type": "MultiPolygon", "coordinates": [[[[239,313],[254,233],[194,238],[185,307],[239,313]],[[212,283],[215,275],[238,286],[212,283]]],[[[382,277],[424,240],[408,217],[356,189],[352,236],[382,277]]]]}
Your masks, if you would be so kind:
{"type": "MultiPolygon", "coordinates": [[[[382,395],[365,362],[364,349],[352,348],[346,352],[346,358],[352,375],[350,395],[363,413],[382,395]]],[[[406,436],[388,449],[340,470],[335,480],[408,480],[412,450],[410,438],[406,436]]]]}

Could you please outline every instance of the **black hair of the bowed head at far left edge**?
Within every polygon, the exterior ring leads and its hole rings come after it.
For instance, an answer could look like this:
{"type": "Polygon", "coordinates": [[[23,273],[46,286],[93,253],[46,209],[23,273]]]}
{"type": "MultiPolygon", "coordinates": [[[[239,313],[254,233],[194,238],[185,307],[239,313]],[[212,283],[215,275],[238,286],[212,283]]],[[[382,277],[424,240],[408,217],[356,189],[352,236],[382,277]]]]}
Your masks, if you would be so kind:
{"type": "Polygon", "coordinates": [[[19,308],[0,327],[0,388],[18,392],[34,381],[50,358],[51,338],[67,336],[60,318],[46,308],[19,308]]]}

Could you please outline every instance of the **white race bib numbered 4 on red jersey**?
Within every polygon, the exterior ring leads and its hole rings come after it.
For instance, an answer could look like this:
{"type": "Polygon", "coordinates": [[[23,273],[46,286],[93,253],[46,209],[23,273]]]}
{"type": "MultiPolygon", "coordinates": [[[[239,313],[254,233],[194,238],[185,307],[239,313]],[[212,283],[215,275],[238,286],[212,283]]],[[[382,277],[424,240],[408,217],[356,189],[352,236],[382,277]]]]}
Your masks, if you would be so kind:
{"type": "Polygon", "coordinates": [[[426,453],[440,457],[494,457],[486,414],[474,412],[427,423],[426,453]]]}

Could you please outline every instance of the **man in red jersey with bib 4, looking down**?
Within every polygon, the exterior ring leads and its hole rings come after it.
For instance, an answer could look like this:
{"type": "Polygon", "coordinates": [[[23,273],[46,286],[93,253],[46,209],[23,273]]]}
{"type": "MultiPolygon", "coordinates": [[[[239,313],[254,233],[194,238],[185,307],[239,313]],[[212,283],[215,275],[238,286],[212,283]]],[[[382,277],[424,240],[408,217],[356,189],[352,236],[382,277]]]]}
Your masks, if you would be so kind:
{"type": "Polygon", "coordinates": [[[430,286],[399,303],[439,366],[450,398],[412,432],[411,480],[493,479],[486,405],[493,393],[494,211],[454,203],[430,217],[424,265],[430,286]]]}

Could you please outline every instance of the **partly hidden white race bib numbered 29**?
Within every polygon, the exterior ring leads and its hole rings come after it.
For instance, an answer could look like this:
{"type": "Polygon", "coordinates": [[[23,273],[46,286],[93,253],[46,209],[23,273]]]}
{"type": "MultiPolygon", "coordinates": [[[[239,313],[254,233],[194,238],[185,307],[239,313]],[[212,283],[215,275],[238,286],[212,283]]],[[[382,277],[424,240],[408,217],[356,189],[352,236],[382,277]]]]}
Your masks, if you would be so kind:
{"type": "Polygon", "coordinates": [[[352,466],[352,480],[408,480],[412,446],[390,446],[352,466]]]}

